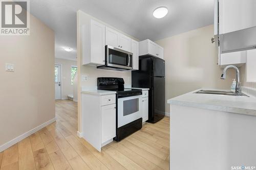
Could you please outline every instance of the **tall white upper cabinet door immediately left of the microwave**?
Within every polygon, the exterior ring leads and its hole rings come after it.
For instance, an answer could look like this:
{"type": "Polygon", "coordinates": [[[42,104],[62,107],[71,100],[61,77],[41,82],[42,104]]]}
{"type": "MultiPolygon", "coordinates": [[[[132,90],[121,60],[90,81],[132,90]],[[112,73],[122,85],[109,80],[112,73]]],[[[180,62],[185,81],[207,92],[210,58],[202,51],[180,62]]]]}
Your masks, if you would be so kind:
{"type": "Polygon", "coordinates": [[[104,64],[105,58],[105,26],[91,20],[91,62],[104,64]]]}

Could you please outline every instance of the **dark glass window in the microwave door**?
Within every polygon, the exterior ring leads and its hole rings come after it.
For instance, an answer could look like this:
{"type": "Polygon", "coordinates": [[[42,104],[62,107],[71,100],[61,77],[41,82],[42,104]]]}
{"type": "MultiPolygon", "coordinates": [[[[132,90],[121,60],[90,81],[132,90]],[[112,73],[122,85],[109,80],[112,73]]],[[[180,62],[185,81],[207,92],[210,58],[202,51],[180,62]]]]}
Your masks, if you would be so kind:
{"type": "Polygon", "coordinates": [[[109,63],[110,64],[117,64],[117,65],[123,65],[123,66],[127,66],[128,65],[128,58],[129,55],[122,53],[122,52],[118,52],[115,50],[112,50],[109,48],[109,63]]]}

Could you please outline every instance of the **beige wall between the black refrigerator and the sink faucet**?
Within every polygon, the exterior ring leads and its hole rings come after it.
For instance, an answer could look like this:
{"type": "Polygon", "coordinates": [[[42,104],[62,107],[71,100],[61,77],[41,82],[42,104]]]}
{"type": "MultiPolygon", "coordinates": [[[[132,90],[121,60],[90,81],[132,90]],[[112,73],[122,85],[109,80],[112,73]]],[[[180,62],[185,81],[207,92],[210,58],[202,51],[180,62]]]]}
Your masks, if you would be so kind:
{"type": "MultiPolygon", "coordinates": [[[[166,100],[199,88],[230,89],[234,70],[228,70],[226,80],[220,79],[213,36],[211,25],[156,41],[164,47],[166,100]]],[[[167,103],[165,108],[169,112],[167,103]]]]}

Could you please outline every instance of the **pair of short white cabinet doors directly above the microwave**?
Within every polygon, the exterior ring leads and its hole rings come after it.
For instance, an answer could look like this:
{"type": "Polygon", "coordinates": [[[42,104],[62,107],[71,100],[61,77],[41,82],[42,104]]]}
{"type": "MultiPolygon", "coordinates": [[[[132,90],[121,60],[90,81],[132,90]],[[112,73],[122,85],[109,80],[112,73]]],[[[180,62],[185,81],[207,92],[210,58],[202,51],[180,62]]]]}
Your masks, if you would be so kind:
{"type": "Polygon", "coordinates": [[[106,45],[120,48],[127,52],[131,52],[131,38],[127,37],[109,27],[106,27],[106,45]]]}

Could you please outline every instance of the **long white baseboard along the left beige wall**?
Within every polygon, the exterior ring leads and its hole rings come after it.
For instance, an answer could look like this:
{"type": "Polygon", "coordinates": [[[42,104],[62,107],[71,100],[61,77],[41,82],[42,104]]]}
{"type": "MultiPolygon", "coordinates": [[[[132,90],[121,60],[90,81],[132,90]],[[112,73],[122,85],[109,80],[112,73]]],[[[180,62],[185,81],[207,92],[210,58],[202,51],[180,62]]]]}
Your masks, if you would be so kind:
{"type": "Polygon", "coordinates": [[[41,124],[41,125],[39,125],[38,127],[34,128],[34,129],[32,129],[32,130],[30,130],[30,131],[28,131],[28,132],[25,132],[24,134],[22,134],[22,135],[20,135],[20,136],[18,136],[18,137],[16,137],[16,138],[10,140],[9,142],[6,142],[5,144],[3,144],[3,145],[0,146],[0,152],[6,150],[6,149],[8,149],[8,148],[10,148],[13,144],[16,144],[16,143],[19,142],[20,140],[25,139],[26,137],[32,135],[33,133],[39,131],[40,129],[42,129],[42,128],[48,126],[48,125],[50,125],[51,123],[53,123],[53,122],[55,122],[55,121],[56,121],[56,118],[53,118],[53,119],[49,120],[48,122],[46,122],[46,123],[44,123],[44,124],[41,124]]]}

